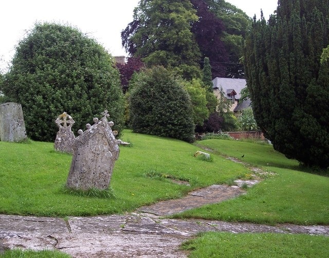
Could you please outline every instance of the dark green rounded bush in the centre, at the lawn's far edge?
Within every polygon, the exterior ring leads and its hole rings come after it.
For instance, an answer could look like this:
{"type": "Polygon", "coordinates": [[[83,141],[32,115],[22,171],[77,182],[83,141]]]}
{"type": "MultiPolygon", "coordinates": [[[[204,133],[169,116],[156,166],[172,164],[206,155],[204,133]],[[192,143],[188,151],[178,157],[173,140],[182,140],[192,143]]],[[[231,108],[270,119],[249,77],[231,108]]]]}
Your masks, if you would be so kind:
{"type": "Polygon", "coordinates": [[[171,71],[154,66],[139,72],[132,84],[130,119],[134,132],[193,141],[192,103],[171,71]]]}

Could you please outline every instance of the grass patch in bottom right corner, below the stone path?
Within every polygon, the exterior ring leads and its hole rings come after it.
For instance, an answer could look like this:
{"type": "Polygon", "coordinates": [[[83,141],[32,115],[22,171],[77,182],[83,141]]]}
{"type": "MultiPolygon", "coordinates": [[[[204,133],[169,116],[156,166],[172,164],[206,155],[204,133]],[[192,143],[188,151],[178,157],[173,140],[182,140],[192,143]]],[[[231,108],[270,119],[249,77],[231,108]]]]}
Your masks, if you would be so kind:
{"type": "Polygon", "coordinates": [[[274,233],[200,235],[182,245],[190,258],[208,257],[328,257],[329,237],[274,233]]]}

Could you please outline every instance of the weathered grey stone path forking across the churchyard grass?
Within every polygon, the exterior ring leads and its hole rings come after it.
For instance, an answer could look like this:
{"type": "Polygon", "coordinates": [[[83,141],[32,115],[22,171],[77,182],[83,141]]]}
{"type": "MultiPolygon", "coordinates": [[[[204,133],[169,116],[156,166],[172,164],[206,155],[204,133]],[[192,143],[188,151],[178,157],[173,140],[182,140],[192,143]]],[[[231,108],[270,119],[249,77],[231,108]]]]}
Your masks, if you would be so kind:
{"type": "MultiPolygon", "coordinates": [[[[264,173],[257,168],[251,170],[255,174],[264,173]]],[[[29,248],[60,250],[77,258],[187,257],[187,253],[180,250],[179,246],[197,233],[205,231],[329,236],[329,226],[267,226],[216,220],[163,218],[164,215],[244,194],[245,191],[239,186],[251,186],[258,181],[236,181],[238,186],[231,187],[213,185],[193,191],[184,198],[161,201],[123,215],[67,219],[0,215],[0,253],[7,248],[29,248]]]]}

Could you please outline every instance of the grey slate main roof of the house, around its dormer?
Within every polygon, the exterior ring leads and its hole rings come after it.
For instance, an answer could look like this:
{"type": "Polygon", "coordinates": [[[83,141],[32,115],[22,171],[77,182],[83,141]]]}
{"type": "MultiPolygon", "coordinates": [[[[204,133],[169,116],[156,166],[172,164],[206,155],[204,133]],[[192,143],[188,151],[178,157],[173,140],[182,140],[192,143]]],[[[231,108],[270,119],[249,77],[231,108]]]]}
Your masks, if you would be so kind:
{"type": "MultiPolygon", "coordinates": [[[[212,80],[213,88],[220,89],[223,88],[224,93],[228,96],[234,92],[236,93],[235,99],[240,99],[240,92],[243,88],[247,87],[247,82],[245,79],[235,79],[235,78],[220,78],[216,77],[212,80]]],[[[227,97],[228,97],[227,96],[227,97]]]]}

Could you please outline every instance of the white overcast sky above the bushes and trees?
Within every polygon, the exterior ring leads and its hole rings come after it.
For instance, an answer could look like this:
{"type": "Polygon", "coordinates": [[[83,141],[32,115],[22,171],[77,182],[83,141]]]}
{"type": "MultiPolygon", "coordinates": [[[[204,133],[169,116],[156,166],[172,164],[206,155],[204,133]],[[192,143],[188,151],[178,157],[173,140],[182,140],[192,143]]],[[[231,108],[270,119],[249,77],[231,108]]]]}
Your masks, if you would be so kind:
{"type": "MultiPolygon", "coordinates": [[[[68,24],[87,33],[113,56],[125,56],[121,31],[133,20],[139,0],[5,0],[1,3],[0,71],[8,68],[15,46],[34,27],[35,22],[68,24]]],[[[226,0],[250,17],[267,20],[277,8],[277,0],[226,0]]]]}

